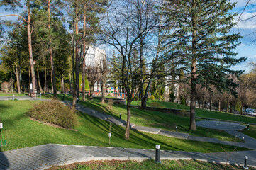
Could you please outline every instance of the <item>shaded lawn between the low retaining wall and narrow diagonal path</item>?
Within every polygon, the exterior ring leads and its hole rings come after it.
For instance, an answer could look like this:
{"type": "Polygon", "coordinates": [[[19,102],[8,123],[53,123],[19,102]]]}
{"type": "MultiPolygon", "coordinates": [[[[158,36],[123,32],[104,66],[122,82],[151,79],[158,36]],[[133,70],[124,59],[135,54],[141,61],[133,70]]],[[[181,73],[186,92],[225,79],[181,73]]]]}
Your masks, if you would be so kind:
{"type": "MultiPolygon", "coordinates": [[[[58,98],[62,98],[62,95],[58,95],[58,98]]],[[[65,100],[72,100],[72,96],[65,96],[65,100]]],[[[122,114],[122,119],[126,120],[126,106],[114,105],[111,108],[108,104],[102,104],[100,99],[94,98],[93,100],[79,101],[79,104],[88,108],[93,108],[101,113],[106,113],[119,118],[119,114],[122,114]]],[[[197,127],[196,131],[189,130],[189,118],[179,115],[162,113],[157,111],[144,111],[138,108],[131,108],[131,122],[136,125],[142,125],[152,128],[161,128],[162,130],[176,131],[178,126],[178,132],[189,133],[189,135],[196,135],[202,137],[213,137],[219,140],[235,141],[233,135],[221,130],[212,130],[208,128],[197,127]]],[[[199,119],[197,119],[199,120],[199,119]]],[[[240,140],[241,142],[242,140],[240,140]]]]}

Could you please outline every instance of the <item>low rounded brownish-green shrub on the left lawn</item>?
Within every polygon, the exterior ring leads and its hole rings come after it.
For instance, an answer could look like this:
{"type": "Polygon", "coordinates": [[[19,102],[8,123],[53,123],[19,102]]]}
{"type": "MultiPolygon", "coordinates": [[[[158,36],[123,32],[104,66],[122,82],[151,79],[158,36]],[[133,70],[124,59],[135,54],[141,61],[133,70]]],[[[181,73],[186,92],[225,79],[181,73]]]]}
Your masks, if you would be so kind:
{"type": "Polygon", "coordinates": [[[78,118],[76,109],[65,106],[60,101],[42,101],[34,104],[28,113],[31,118],[45,123],[60,125],[64,128],[74,128],[78,118]]]}

